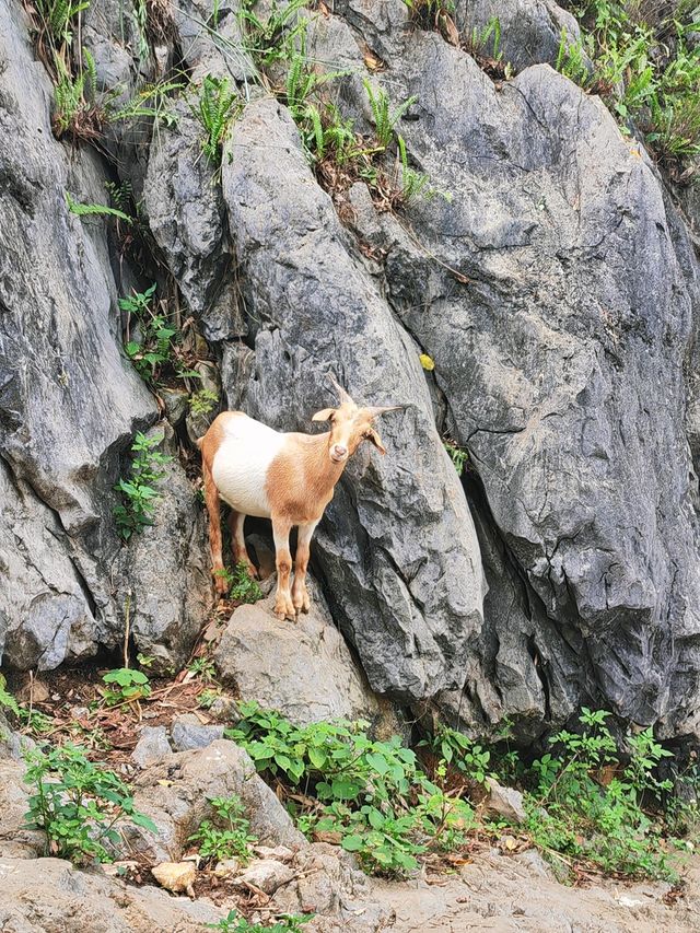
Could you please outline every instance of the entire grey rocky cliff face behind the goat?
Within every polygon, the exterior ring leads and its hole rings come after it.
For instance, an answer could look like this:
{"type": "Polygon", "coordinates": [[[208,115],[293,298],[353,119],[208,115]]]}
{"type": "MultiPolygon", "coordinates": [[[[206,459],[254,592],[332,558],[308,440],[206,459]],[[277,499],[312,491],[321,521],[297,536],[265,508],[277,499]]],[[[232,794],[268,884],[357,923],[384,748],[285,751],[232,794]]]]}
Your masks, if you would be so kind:
{"type": "MultiPolygon", "coordinates": [[[[93,3],[81,40],[103,93],[171,68],[189,86],[171,92],[177,119],[115,124],[92,147],[54,138],[26,14],[1,3],[3,663],[115,646],[128,611],[137,645],[179,664],[210,610],[177,460],[153,528],[125,547],[112,516],[132,435],[160,418],[117,298],[170,276],[229,407],[310,430],[328,372],[362,401],[407,405],[383,424],[387,456],[348,468],[314,551],[376,691],[479,728],[510,716],[524,737],[582,702],[697,734],[698,259],[644,149],[550,67],[569,14],[527,0],[503,18],[508,80],[401,0],[308,14],[308,60],[343,72],[325,93],[358,131],[373,121],[363,79],[393,106],[417,98],[407,160],[442,194],[383,210],[366,179],[319,184],[271,93],[283,65],[260,80],[236,3],[153,4],[145,43],[124,4],[93,3]],[[209,74],[244,104],[220,170],[190,106],[209,74]],[[138,256],[65,198],[104,203],[124,179],[138,256]],[[445,435],[469,454],[464,482],[445,435]]],[[[469,30],[493,4],[456,7],[469,30]]],[[[189,442],[171,418],[175,452],[189,442]]]]}

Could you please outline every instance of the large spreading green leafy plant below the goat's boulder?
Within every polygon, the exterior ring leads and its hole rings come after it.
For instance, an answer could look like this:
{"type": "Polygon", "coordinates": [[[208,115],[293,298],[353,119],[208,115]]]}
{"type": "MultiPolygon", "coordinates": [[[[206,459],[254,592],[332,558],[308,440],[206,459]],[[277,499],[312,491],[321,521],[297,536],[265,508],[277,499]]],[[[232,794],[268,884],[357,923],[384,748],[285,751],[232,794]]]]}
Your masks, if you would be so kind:
{"type": "Polygon", "coordinates": [[[468,805],[429,781],[398,736],[373,740],[361,722],[294,726],[256,703],[240,711],[244,719],[226,734],[258,771],[315,798],[296,814],[300,828],[337,835],[369,871],[406,874],[435,840],[454,841],[458,825],[471,820],[468,805]]]}

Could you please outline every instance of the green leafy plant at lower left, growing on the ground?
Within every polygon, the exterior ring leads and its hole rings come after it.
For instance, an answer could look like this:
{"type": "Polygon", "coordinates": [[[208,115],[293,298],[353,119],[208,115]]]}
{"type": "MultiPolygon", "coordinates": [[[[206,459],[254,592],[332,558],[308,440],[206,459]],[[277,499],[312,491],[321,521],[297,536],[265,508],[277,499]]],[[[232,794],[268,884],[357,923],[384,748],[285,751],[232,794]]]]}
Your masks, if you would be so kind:
{"type": "Polygon", "coordinates": [[[127,785],[113,771],[90,761],[85,749],[67,743],[24,753],[30,785],[27,827],[47,836],[47,854],[77,864],[108,862],[107,849],[119,840],[117,826],[131,823],[155,832],[154,824],[133,806],[127,785]]]}

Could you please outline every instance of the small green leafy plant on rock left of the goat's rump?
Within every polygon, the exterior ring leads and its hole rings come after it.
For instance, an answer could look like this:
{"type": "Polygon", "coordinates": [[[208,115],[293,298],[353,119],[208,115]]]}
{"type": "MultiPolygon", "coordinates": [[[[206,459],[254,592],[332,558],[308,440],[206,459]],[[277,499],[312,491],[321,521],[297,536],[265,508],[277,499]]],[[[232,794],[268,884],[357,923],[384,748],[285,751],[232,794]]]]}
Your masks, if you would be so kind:
{"type": "Polygon", "coordinates": [[[172,460],[167,454],[154,450],[163,438],[147,438],[137,432],[131,445],[131,471],[128,479],[119,479],[114,487],[121,493],[121,502],[114,508],[119,535],[128,541],[153,524],[153,509],[160,498],[154,483],[165,476],[161,467],[172,460]]]}

